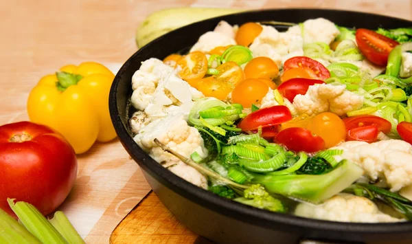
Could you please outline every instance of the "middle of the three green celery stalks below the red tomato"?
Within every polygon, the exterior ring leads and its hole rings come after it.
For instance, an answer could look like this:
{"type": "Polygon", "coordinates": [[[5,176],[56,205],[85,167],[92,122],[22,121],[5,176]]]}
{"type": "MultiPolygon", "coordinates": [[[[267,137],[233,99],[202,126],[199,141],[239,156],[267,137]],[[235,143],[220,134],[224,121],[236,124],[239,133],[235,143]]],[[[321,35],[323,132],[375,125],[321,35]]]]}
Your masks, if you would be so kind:
{"type": "Polygon", "coordinates": [[[39,212],[32,204],[7,199],[10,208],[19,217],[24,227],[37,237],[43,244],[67,244],[63,236],[54,228],[52,223],[39,212]]]}

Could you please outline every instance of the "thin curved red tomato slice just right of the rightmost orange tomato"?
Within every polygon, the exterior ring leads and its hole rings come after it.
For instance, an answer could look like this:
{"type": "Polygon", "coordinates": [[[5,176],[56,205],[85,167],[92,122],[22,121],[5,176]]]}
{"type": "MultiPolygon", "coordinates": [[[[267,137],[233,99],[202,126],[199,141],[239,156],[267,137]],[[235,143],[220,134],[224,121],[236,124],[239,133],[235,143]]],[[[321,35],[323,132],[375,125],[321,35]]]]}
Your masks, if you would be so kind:
{"type": "Polygon", "coordinates": [[[346,131],[350,131],[358,127],[373,125],[376,126],[379,131],[389,133],[392,128],[391,122],[375,115],[357,115],[354,117],[344,118],[343,122],[345,123],[346,131]]]}

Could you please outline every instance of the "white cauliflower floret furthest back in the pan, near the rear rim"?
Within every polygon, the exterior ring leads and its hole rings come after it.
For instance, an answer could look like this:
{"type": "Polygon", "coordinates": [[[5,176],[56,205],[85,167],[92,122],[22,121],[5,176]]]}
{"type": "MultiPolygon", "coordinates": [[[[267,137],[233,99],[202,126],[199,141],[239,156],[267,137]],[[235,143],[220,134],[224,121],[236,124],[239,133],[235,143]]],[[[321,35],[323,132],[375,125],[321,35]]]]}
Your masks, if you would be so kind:
{"type": "Polygon", "coordinates": [[[290,27],[286,33],[297,34],[299,36],[303,33],[304,43],[322,42],[328,45],[334,41],[340,32],[336,25],[327,19],[308,19],[303,23],[303,30],[300,25],[290,27]]]}

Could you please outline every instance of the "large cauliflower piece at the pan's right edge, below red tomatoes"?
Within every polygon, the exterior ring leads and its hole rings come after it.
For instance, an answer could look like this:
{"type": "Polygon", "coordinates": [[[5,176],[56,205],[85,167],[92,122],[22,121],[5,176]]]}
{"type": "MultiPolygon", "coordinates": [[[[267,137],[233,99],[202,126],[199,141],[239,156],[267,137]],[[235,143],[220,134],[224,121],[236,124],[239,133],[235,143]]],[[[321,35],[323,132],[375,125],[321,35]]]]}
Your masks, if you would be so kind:
{"type": "Polygon", "coordinates": [[[374,181],[385,179],[393,192],[412,185],[412,146],[403,140],[350,141],[333,148],[343,149],[337,160],[355,162],[374,181]]]}

